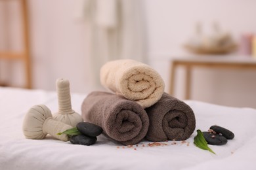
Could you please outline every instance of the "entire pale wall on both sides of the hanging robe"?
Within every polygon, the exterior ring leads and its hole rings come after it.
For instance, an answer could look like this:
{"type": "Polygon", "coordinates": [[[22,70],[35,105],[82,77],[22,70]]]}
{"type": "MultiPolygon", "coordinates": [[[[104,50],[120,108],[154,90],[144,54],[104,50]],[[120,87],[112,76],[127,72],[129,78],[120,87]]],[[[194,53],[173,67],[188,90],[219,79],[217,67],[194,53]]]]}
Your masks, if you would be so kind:
{"type": "MultiPolygon", "coordinates": [[[[33,88],[55,90],[56,78],[65,77],[70,79],[72,92],[87,93],[94,90],[90,85],[89,67],[93,66],[89,65],[89,42],[86,39],[89,36],[88,28],[85,22],[75,19],[74,1],[29,0],[28,2],[33,88]]],[[[181,44],[192,35],[195,22],[200,21],[206,29],[209,29],[212,22],[218,21],[224,29],[232,31],[236,39],[240,33],[256,32],[254,0],[142,0],[142,2],[146,12],[150,65],[163,76],[167,87],[169,59],[173,56],[186,55],[181,44]]],[[[3,16],[1,9],[6,7],[3,5],[3,1],[0,1],[0,24],[3,16]]],[[[16,13],[13,13],[13,8],[9,11],[11,14],[16,13]]],[[[16,35],[12,36],[13,42],[20,40],[17,32],[15,29],[9,33],[16,35]]],[[[0,37],[1,35],[3,33],[0,26],[0,37]]],[[[3,44],[3,39],[2,41],[0,39],[0,48],[3,44]]],[[[255,75],[255,71],[198,69],[194,71],[192,99],[256,108],[255,75]]],[[[3,75],[2,71],[1,77],[3,76],[6,74],[3,75]]],[[[12,77],[12,81],[20,83],[22,78],[12,77]]],[[[183,99],[182,70],[177,84],[180,88],[175,92],[175,96],[183,99]]]]}

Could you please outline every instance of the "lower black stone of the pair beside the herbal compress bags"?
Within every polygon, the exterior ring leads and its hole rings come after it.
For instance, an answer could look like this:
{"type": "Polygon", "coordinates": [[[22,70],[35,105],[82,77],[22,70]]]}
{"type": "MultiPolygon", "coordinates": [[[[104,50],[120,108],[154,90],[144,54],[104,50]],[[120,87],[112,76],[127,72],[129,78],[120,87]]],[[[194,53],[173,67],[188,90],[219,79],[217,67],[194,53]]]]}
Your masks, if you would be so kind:
{"type": "Polygon", "coordinates": [[[91,144],[95,144],[96,141],[96,137],[87,137],[85,135],[74,135],[70,137],[70,142],[72,144],[83,144],[89,146],[91,144]]]}

